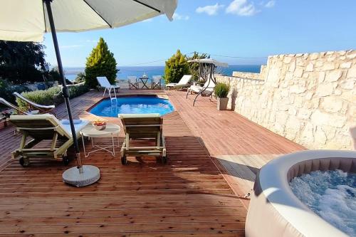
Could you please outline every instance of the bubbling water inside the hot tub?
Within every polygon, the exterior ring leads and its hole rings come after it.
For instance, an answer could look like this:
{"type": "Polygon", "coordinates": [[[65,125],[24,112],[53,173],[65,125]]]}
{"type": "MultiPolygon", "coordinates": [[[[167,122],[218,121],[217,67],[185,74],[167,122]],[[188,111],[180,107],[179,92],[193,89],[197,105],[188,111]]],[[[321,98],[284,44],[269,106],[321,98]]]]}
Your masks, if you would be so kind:
{"type": "Polygon", "coordinates": [[[311,172],[290,181],[295,196],[340,231],[356,236],[356,174],[311,172]]]}

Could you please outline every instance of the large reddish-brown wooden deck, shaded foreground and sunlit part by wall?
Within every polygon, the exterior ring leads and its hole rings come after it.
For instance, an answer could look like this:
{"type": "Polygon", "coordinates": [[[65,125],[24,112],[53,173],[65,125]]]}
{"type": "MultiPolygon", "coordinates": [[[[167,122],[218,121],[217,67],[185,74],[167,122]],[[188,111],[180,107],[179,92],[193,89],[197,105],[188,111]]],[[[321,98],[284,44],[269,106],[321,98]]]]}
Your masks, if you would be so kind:
{"type": "MultiPolygon", "coordinates": [[[[231,189],[230,174],[216,157],[303,147],[234,112],[218,112],[209,98],[193,108],[184,94],[167,92],[177,110],[164,116],[167,164],[129,159],[122,166],[118,156],[98,152],[83,162],[99,167],[101,179],[83,188],[63,184],[68,167],[61,162],[36,159],[23,168],[9,159],[20,136],[13,127],[1,130],[0,236],[244,236],[246,200],[235,195],[243,191],[239,184],[231,189]]],[[[91,91],[71,100],[74,116],[93,119],[85,110],[100,95],[91,91]]],[[[64,105],[58,117],[66,117],[64,105]]]]}

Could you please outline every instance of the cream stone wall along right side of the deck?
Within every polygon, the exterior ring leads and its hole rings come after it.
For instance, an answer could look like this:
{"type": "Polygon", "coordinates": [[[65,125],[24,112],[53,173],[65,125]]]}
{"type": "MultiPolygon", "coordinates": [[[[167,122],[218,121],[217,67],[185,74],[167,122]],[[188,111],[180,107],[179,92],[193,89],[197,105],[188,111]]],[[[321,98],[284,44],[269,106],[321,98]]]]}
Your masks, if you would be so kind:
{"type": "Polygon", "coordinates": [[[309,149],[352,149],[356,51],[270,56],[260,78],[217,76],[229,108],[309,149]]]}

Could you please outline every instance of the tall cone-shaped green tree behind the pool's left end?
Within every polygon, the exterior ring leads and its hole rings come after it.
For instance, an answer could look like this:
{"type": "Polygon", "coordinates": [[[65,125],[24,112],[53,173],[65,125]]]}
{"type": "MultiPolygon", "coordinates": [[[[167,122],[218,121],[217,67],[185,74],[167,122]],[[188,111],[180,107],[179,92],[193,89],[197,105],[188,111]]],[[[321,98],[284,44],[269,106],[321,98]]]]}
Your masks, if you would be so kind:
{"type": "Polygon", "coordinates": [[[105,76],[113,84],[117,71],[114,54],[109,51],[108,45],[100,37],[98,45],[93,48],[85,64],[85,84],[95,88],[98,85],[96,80],[98,76],[105,76]]]}

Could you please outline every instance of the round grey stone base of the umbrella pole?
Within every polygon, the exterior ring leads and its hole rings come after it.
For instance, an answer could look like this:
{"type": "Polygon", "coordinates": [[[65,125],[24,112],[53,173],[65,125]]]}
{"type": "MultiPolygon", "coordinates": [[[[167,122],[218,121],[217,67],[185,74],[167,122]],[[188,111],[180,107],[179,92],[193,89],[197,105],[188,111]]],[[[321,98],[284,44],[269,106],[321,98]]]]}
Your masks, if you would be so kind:
{"type": "Polygon", "coordinates": [[[63,174],[63,182],[73,186],[88,186],[100,179],[100,170],[93,165],[83,165],[83,173],[79,173],[78,167],[67,169],[63,174]]]}

